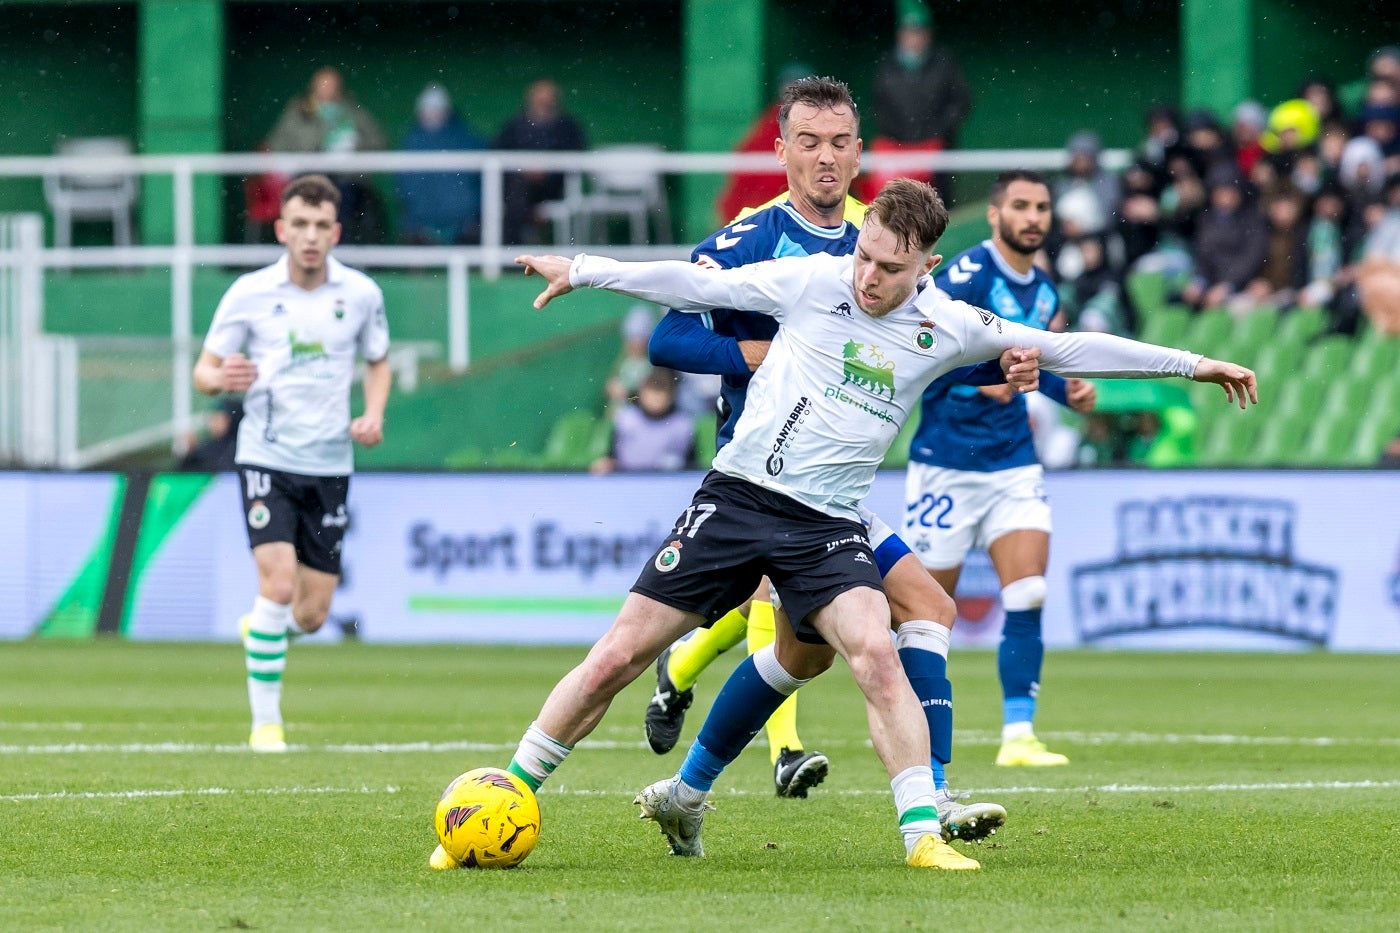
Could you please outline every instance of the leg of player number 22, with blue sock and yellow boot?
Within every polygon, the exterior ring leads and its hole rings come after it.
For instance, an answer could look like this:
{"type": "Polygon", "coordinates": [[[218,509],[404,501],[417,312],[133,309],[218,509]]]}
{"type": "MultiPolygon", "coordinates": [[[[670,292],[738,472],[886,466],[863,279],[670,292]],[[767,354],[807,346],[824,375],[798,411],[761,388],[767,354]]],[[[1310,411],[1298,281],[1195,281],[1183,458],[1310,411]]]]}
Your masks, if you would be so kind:
{"type": "Polygon", "coordinates": [[[1001,604],[1007,612],[997,650],[1004,703],[997,763],[1037,768],[1065,765],[1068,758],[1049,751],[1035,735],[1036,695],[1040,692],[1040,667],[1044,660],[1040,608],[1046,598],[1050,535],[1030,528],[1011,531],[993,541],[987,553],[1001,581],[1001,604]]]}

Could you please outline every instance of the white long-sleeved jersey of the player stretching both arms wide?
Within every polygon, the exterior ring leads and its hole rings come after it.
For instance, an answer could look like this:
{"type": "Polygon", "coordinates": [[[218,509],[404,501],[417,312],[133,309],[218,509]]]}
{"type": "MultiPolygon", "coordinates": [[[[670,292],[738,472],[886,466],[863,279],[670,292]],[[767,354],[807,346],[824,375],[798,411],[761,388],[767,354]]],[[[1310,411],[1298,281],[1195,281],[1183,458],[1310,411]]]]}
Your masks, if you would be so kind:
{"type": "Polygon", "coordinates": [[[780,324],[714,468],[830,516],[858,518],[875,471],[924,388],[1011,347],[1040,347],[1063,375],[1191,375],[1201,357],[1106,333],[1049,333],[953,301],[930,279],[882,318],[861,311],[853,256],[781,258],[735,269],[580,255],[575,286],[680,311],[735,308],[780,324]]]}

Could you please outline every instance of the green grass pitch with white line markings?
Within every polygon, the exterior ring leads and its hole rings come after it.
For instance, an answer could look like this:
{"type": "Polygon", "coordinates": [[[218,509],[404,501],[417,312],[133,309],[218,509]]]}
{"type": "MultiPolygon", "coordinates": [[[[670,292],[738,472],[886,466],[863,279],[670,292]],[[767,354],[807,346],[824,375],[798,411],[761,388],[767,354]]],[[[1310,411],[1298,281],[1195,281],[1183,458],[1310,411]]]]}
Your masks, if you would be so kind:
{"type": "Polygon", "coordinates": [[[293,751],[255,756],[237,646],[3,644],[0,929],[1400,925],[1400,677],[1383,656],[1051,653],[1040,734],[1071,763],[1033,770],[991,763],[994,657],[955,654],[953,786],[1009,821],[972,848],[981,871],[948,874],[903,866],[840,664],[799,712],[808,745],[832,758],[827,782],[777,800],[755,747],[717,786],[707,857],[668,857],[631,806],[680,761],[641,741],[648,674],[546,785],[524,866],[430,871],[442,786],[504,765],[580,657],[294,646],[293,751]]]}

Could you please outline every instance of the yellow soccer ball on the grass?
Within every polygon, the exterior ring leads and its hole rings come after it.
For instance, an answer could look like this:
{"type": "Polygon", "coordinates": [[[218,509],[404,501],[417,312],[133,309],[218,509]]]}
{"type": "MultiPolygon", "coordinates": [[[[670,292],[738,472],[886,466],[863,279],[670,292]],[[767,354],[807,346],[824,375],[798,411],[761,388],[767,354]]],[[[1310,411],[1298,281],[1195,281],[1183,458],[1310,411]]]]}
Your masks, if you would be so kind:
{"type": "Polygon", "coordinates": [[[477,768],[447,786],[433,822],[462,867],[512,869],[539,842],[539,801],[508,770],[477,768]]]}

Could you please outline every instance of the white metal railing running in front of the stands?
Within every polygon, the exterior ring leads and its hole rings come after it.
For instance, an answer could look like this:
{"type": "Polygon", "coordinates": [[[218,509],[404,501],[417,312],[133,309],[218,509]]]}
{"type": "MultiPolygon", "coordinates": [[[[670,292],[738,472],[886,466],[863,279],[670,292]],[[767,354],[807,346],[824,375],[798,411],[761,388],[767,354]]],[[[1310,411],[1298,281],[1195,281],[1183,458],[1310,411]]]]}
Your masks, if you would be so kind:
{"type": "MultiPolygon", "coordinates": [[[[1130,153],[1107,150],[1102,163],[1107,168],[1127,165],[1130,153]]],[[[862,168],[878,172],[928,171],[990,172],[1008,168],[1058,170],[1067,164],[1064,150],[953,150],[927,153],[882,153],[862,156],[862,168]]],[[[32,465],[87,465],[88,457],[70,445],[76,431],[73,419],[59,408],[57,398],[41,391],[55,387],[76,368],[71,347],[55,345],[50,350],[21,352],[21,345],[43,336],[42,276],[48,269],[76,268],[169,268],[171,270],[171,406],[168,423],[151,430],[157,436],[174,438],[178,452],[193,423],[193,388],[189,360],[193,359],[193,270],[195,266],[256,268],[273,262],[281,249],[260,245],[202,245],[196,242],[195,178],[203,175],[258,175],[279,172],[294,175],[318,171],[329,174],[452,171],[482,175],[482,242],[473,247],[353,247],[336,248],[346,262],[368,268],[423,269],[440,268],[447,272],[448,332],[447,359],[455,373],[470,364],[470,276],[480,269],[494,279],[501,269],[514,265],[519,247],[503,242],[504,178],[511,171],[550,171],[568,177],[568,188],[578,189],[581,179],[595,172],[659,174],[659,175],[722,175],[729,172],[783,174],[770,154],[757,153],[665,153],[629,151],[626,156],[582,153],[529,151],[452,151],[452,153],[225,153],[225,154],[160,154],[125,157],[77,156],[18,156],[0,158],[0,178],[52,178],[81,174],[133,174],[141,177],[169,177],[172,181],[172,242],[146,247],[84,247],[67,249],[43,248],[42,228],[25,227],[28,238],[20,242],[11,231],[0,234],[0,455],[32,465]],[[6,342],[10,340],[10,342],[6,342]],[[50,354],[52,356],[50,360],[50,354]],[[36,361],[38,360],[38,361],[36,361]],[[50,360],[50,363],[45,363],[50,360]],[[48,367],[39,373],[35,367],[48,367]],[[57,367],[56,370],[53,367],[57,367]],[[59,375],[55,377],[49,370],[59,375]],[[29,387],[28,408],[17,408],[17,394],[29,387]],[[21,410],[22,409],[22,410],[21,410]],[[27,413],[25,413],[27,412],[27,413]],[[38,427],[35,419],[48,419],[38,427]],[[66,420],[64,420],[66,419],[66,420]],[[62,420],[62,423],[60,423],[62,420]],[[39,436],[34,434],[38,430],[39,436]],[[42,441],[42,443],[41,443],[42,441]]],[[[143,191],[148,191],[141,185],[143,191]]],[[[36,220],[36,219],[35,219],[36,220]]],[[[32,223],[32,221],[31,221],[32,223]]],[[[15,228],[17,230],[17,228],[15,228]]],[[[557,244],[568,251],[580,251],[599,244],[557,244]]],[[[655,244],[634,247],[603,247],[620,259],[671,259],[689,255],[689,244],[655,244]]],[[[532,249],[540,249],[532,247],[532,249]]],[[[67,396],[64,396],[67,401],[67,396]]],[[[116,447],[122,447],[118,444],[116,447]]],[[[104,448],[105,450],[105,448],[104,448]]]]}

